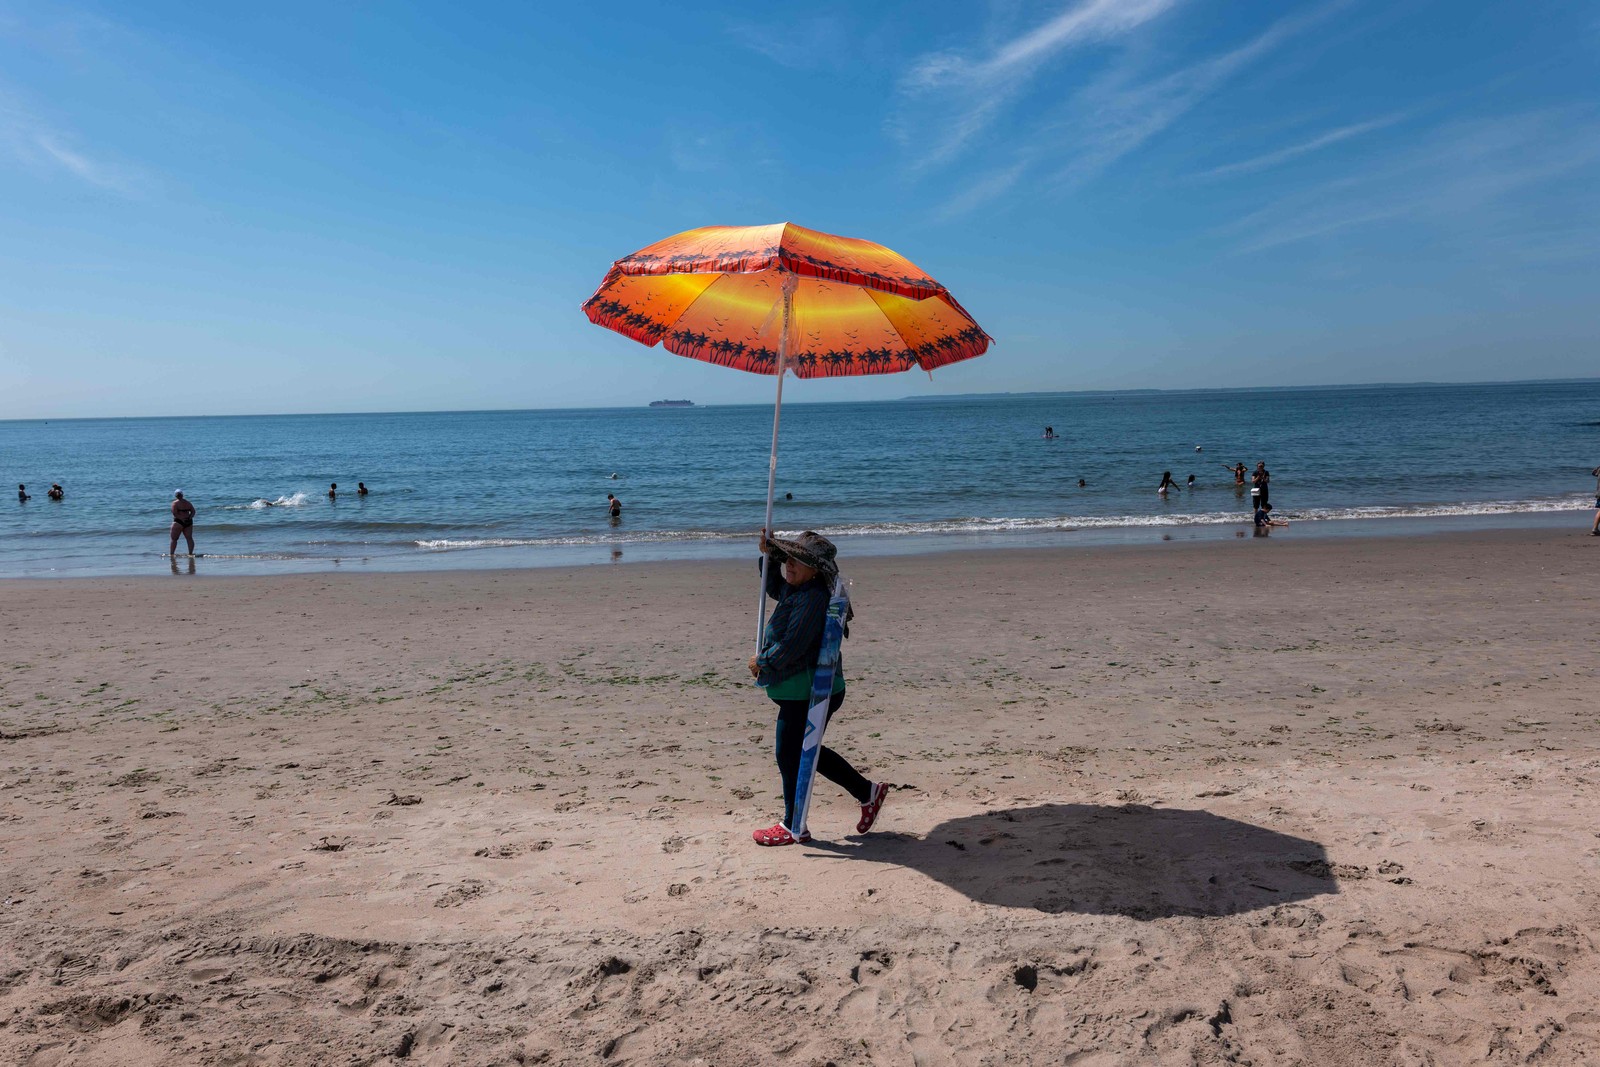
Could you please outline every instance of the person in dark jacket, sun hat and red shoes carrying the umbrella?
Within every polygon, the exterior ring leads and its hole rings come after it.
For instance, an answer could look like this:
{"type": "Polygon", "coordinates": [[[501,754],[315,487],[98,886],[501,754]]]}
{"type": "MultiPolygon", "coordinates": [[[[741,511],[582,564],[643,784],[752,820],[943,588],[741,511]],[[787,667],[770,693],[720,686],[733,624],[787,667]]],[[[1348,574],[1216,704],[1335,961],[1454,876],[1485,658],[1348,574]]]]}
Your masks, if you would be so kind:
{"type": "MultiPolygon", "coordinates": [[[[755,830],[750,837],[757,845],[794,845],[811,840],[808,832],[797,838],[790,827],[800,747],[811,710],[811,675],[822,651],[822,627],[827,624],[827,601],[838,577],[838,563],[834,560],[834,542],[810,530],[794,541],[762,534],[762,552],[766,555],[766,595],[778,606],[766,622],[762,651],[750,656],[749,665],[755,683],[778,705],[778,774],[784,782],[784,821],[755,830]]],[[[830,720],[843,702],[845,664],[840,662],[834,672],[834,696],[827,704],[830,720]]],[[[888,784],[869,782],[845,757],[827,747],[818,753],[816,769],[861,805],[856,833],[870,830],[883,809],[888,784]]]]}

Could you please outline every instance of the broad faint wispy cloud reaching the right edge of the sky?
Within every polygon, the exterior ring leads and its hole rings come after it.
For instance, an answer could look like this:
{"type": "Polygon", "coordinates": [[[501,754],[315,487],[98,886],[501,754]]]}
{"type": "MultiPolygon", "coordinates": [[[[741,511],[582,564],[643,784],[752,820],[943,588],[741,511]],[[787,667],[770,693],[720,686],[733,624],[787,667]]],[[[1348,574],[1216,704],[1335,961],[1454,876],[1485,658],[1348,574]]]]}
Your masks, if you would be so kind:
{"type": "MultiPolygon", "coordinates": [[[[1600,118],[1592,109],[1464,120],[1363,171],[1282,197],[1218,235],[1250,254],[1376,224],[1416,224],[1442,240],[1493,242],[1502,253],[1541,258],[1550,216],[1584,218],[1584,205],[1594,206],[1584,190],[1597,182],[1600,118]]],[[[1592,234],[1589,240],[1594,248],[1592,234]]]]}

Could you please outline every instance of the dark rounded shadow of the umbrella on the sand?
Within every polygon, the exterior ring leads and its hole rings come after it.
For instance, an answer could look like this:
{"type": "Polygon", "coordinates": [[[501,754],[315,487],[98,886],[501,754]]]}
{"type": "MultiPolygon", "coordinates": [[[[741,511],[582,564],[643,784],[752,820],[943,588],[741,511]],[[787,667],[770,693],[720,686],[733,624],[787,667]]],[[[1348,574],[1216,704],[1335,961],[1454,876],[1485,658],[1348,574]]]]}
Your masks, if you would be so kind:
{"type": "Polygon", "coordinates": [[[1317,841],[1184,808],[1037,805],[810,848],[1046,913],[1237,915],[1339,891],[1317,841]]]}

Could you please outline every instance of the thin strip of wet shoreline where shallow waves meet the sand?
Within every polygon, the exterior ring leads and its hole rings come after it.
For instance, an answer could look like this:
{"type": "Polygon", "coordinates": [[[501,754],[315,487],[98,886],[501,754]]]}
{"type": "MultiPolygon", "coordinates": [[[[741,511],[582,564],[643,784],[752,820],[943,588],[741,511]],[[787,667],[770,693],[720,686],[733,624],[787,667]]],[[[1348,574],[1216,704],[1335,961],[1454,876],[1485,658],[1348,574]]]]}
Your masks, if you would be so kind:
{"type": "MultiPolygon", "coordinates": [[[[1291,512],[1285,512],[1291,515],[1291,512]]],[[[1274,542],[1344,541],[1344,539],[1413,539],[1493,531],[1558,533],[1578,530],[1592,517],[1592,509],[1574,507],[1549,512],[1517,512],[1488,515],[1429,517],[1365,517],[1365,518],[1291,518],[1288,528],[1270,534],[1274,542]]],[[[779,528],[784,530],[784,526],[779,528]]],[[[203,533],[203,531],[202,531],[203,533]]],[[[824,533],[827,533],[824,530],[824,533]]],[[[750,534],[754,537],[754,533],[750,534]]],[[[992,533],[920,533],[920,534],[838,534],[840,555],[854,558],[918,557],[962,552],[1067,550],[1093,552],[1107,547],[1162,544],[1216,544],[1256,541],[1248,517],[1237,523],[1173,523],[1138,526],[1088,526],[1074,530],[1003,530],[992,533]]],[[[202,545],[203,547],[203,541],[202,545]]],[[[461,571],[563,569],[606,565],[736,560],[746,553],[742,539],[717,536],[699,541],[616,541],[584,545],[491,545],[472,549],[414,549],[395,555],[240,558],[227,553],[198,553],[194,571],[190,557],[176,560],[165,553],[139,557],[147,563],[126,563],[117,569],[69,569],[64,573],[0,574],[0,589],[27,581],[94,581],[110,577],[288,577],[293,574],[421,574],[461,571]],[[168,571],[160,571],[162,566],[168,571]],[[176,569],[173,569],[176,566],[176,569]]]]}

